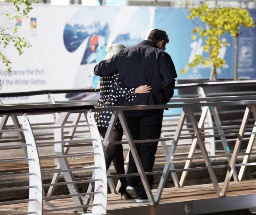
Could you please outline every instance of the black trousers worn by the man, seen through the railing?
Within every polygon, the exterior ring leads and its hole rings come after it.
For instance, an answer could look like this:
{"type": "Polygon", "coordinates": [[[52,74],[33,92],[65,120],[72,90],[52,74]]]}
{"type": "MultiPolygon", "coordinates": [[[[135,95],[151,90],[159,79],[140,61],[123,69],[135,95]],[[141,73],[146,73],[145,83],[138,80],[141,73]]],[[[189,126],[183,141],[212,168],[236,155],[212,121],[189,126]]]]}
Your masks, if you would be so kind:
{"type": "MultiPolygon", "coordinates": [[[[163,110],[156,111],[155,114],[146,117],[125,116],[125,119],[127,121],[127,125],[133,140],[160,138],[163,121],[163,110]]],[[[153,169],[157,144],[158,142],[135,144],[138,156],[141,160],[141,164],[145,172],[151,172],[153,169]]],[[[138,173],[138,169],[131,152],[129,153],[128,173],[138,173]]],[[[154,177],[152,175],[148,175],[147,179],[152,190],[154,177]]],[[[147,199],[147,195],[140,177],[129,177],[128,185],[136,188],[137,197],[147,199]]]]}

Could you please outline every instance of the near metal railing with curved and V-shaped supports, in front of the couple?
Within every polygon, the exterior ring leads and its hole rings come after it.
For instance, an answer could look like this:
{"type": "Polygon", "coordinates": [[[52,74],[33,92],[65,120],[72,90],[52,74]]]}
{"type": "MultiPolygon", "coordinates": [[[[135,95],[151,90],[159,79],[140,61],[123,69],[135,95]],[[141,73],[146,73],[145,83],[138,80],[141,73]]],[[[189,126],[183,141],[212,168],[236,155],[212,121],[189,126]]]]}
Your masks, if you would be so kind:
{"type": "MultiPolygon", "coordinates": [[[[114,144],[125,144],[127,143],[129,145],[129,148],[131,149],[131,153],[133,154],[134,160],[136,161],[138,172],[137,174],[126,174],[125,177],[128,176],[140,176],[142,178],[143,185],[145,187],[148,199],[151,204],[158,204],[161,201],[161,194],[163,191],[163,187],[165,186],[165,182],[167,179],[167,176],[169,173],[172,173],[172,177],[174,180],[176,180],[176,183],[178,186],[184,186],[184,181],[186,177],[183,177],[184,179],[178,180],[177,177],[177,172],[182,172],[182,173],[187,173],[188,171],[195,171],[195,170],[202,170],[202,169],[207,169],[211,178],[211,181],[213,183],[215,192],[217,196],[225,196],[228,190],[228,185],[231,180],[231,177],[235,180],[241,180],[242,177],[237,177],[235,167],[241,167],[241,166],[248,166],[252,165],[252,163],[247,163],[249,155],[251,155],[251,150],[252,150],[252,145],[248,144],[247,146],[247,152],[246,153],[239,153],[239,148],[242,142],[242,138],[244,135],[250,135],[250,140],[251,143],[254,141],[255,138],[255,127],[250,127],[251,132],[245,132],[246,124],[248,119],[250,118],[250,114],[253,114],[254,121],[256,119],[256,96],[235,96],[235,97],[226,97],[225,101],[223,101],[223,97],[207,97],[207,98],[193,98],[193,99],[174,99],[172,100],[171,104],[168,105],[146,105],[146,106],[123,106],[123,107],[110,107],[110,108],[95,108],[93,106],[88,106],[86,103],[70,103],[70,104],[53,104],[53,105],[14,105],[10,108],[10,106],[5,106],[3,105],[0,110],[0,114],[3,115],[1,125],[2,128],[0,130],[1,134],[3,133],[9,133],[9,132],[17,132],[20,134],[24,134],[25,136],[25,141],[21,142],[20,140],[19,143],[2,143],[0,149],[1,150],[11,150],[13,148],[22,148],[24,151],[27,152],[24,153],[24,156],[22,158],[5,158],[1,159],[1,163],[4,162],[28,162],[29,166],[29,171],[27,172],[18,172],[18,173],[1,173],[1,178],[4,180],[10,180],[9,178],[11,177],[29,177],[29,186],[21,186],[21,187],[13,187],[13,188],[3,188],[0,191],[1,192],[6,192],[9,190],[22,190],[22,189],[29,189],[29,199],[27,200],[13,200],[13,201],[5,201],[1,202],[0,205],[5,205],[5,204],[16,204],[18,202],[28,202],[29,204],[29,209],[28,212],[32,212],[32,210],[36,210],[38,214],[41,214],[43,211],[57,211],[57,210],[63,210],[63,207],[61,208],[54,208],[54,209],[46,209],[46,203],[44,201],[50,201],[54,199],[63,199],[66,197],[71,197],[72,202],[74,202],[73,206],[68,206],[65,207],[64,209],[77,209],[77,210],[82,210],[80,212],[86,212],[85,209],[88,209],[89,207],[93,207],[93,212],[100,210],[100,213],[106,213],[106,172],[104,173],[104,156],[103,156],[103,148],[101,148],[101,140],[100,136],[98,133],[98,130],[96,128],[96,124],[93,118],[93,115],[91,114],[91,111],[113,111],[113,116],[110,121],[110,125],[108,127],[108,131],[106,133],[106,137],[103,141],[103,145],[107,147],[108,144],[113,144],[113,143],[108,143],[108,136],[111,130],[113,129],[113,126],[115,124],[115,120],[117,119],[117,116],[119,117],[121,124],[124,129],[124,134],[127,138],[127,141],[125,142],[115,142],[114,144]],[[204,101],[204,102],[201,102],[204,101]],[[215,136],[220,136],[225,138],[228,135],[233,135],[234,138],[237,138],[236,145],[234,147],[233,153],[231,154],[227,150],[224,152],[222,155],[217,155],[217,156],[209,156],[208,152],[205,148],[204,144],[204,138],[206,138],[209,135],[203,134],[205,129],[208,128],[203,128],[202,124],[205,119],[205,116],[207,114],[207,111],[209,109],[214,109],[219,106],[225,106],[225,105],[246,105],[245,109],[245,115],[243,116],[242,119],[242,124],[239,133],[220,133],[215,136]],[[201,115],[199,123],[196,121],[195,116],[193,111],[191,111],[195,107],[200,107],[203,108],[203,113],[201,115]],[[123,111],[125,110],[143,110],[143,109],[175,109],[175,108],[182,108],[182,113],[180,115],[178,124],[175,129],[171,131],[173,133],[170,135],[170,137],[163,137],[158,139],[160,142],[171,142],[170,148],[167,147],[166,144],[166,159],[165,159],[165,166],[162,171],[157,171],[157,172],[147,172],[145,173],[143,171],[143,168],[141,166],[138,154],[134,150],[134,144],[136,143],[142,143],[142,142],[150,142],[150,141],[156,141],[156,140],[133,140],[131,137],[131,134],[129,133],[129,129],[127,127],[127,124],[125,122],[125,118],[123,115],[123,111]],[[91,110],[91,111],[89,111],[91,110]],[[43,113],[54,113],[54,112],[59,112],[61,113],[58,120],[56,121],[54,126],[39,126],[39,127],[34,127],[32,128],[29,124],[29,120],[26,115],[22,115],[23,113],[29,113],[29,114],[43,114],[43,113]],[[67,126],[66,122],[68,118],[70,117],[71,113],[75,113],[74,119],[72,120],[72,124],[69,124],[67,126]],[[86,134],[84,136],[77,135],[75,133],[75,130],[82,127],[82,125],[79,124],[79,120],[81,118],[81,113],[85,113],[85,118],[86,122],[83,126],[89,127],[91,129],[87,130],[86,134]],[[13,116],[13,119],[16,117],[21,117],[22,121],[22,126],[15,128],[14,129],[4,129],[3,126],[3,119],[6,121],[6,118],[8,116],[13,116]],[[189,134],[184,134],[184,132],[188,131],[188,129],[184,129],[184,122],[185,122],[185,116],[188,115],[193,128],[194,134],[191,135],[189,134]],[[89,117],[89,118],[88,118],[89,117]],[[39,130],[39,129],[53,129],[54,130],[54,140],[48,141],[47,139],[44,138],[39,138],[35,139],[34,138],[34,131],[39,130]],[[64,135],[64,130],[68,129],[68,135],[64,135]],[[200,167],[198,169],[195,168],[189,168],[185,167],[184,169],[175,169],[175,152],[177,151],[177,147],[179,147],[179,142],[182,139],[193,139],[193,143],[191,144],[190,150],[189,150],[189,156],[186,158],[182,158],[183,161],[193,161],[193,159],[203,159],[205,161],[206,166],[205,167],[200,167]],[[195,141],[196,139],[196,141],[195,141]],[[202,154],[201,157],[193,157],[193,154],[196,150],[196,144],[200,146],[200,153],[202,154]],[[52,155],[44,155],[40,156],[38,153],[40,147],[46,147],[46,146],[53,146],[54,145],[54,153],[52,155]],[[92,146],[93,148],[91,151],[86,150],[86,152],[81,152],[82,148],[86,148],[92,146]],[[97,145],[98,152],[95,152],[95,147],[97,145]],[[69,148],[74,149],[75,147],[79,147],[78,152],[68,152],[69,148]],[[101,149],[100,149],[101,148],[101,149]],[[99,151],[102,151],[99,153],[99,151]],[[68,163],[68,159],[72,159],[74,157],[85,157],[85,156],[94,156],[94,162],[95,166],[94,167],[70,167],[68,163]],[[222,165],[222,166],[212,166],[211,159],[214,157],[223,157],[226,159],[230,158],[228,160],[227,165],[222,165]],[[244,161],[242,164],[236,164],[236,159],[238,156],[243,156],[244,161]],[[41,169],[40,162],[42,162],[43,159],[55,159],[58,161],[58,167],[54,167],[52,169],[46,169],[43,170],[41,169]],[[100,164],[98,163],[100,162],[100,164]],[[174,164],[172,166],[172,164],[174,164]],[[227,176],[224,181],[223,188],[220,189],[219,187],[219,182],[217,181],[217,178],[214,173],[215,168],[227,168],[227,176]],[[99,170],[100,172],[100,177],[96,177],[96,170],[99,170]],[[86,180],[75,180],[74,178],[74,172],[75,171],[86,171],[86,172],[95,172],[95,176],[90,177],[90,179],[86,180]],[[43,183],[43,175],[51,175],[51,176],[56,176],[56,173],[61,173],[63,174],[63,178],[65,182],[54,182],[54,183],[43,183]],[[146,175],[148,174],[160,174],[161,175],[161,180],[157,188],[157,193],[155,196],[153,196],[152,191],[148,185],[148,181],[146,178],[146,175]],[[103,180],[105,178],[105,180],[103,180]],[[100,185],[96,185],[97,182],[100,181],[100,185]],[[79,193],[76,187],[77,183],[85,183],[88,182],[89,184],[91,182],[95,183],[95,191],[94,192],[83,192],[79,193]],[[68,187],[68,193],[65,195],[57,195],[57,196],[47,196],[43,195],[43,188],[44,187],[51,187],[51,186],[58,186],[60,183],[61,185],[65,184],[68,187]],[[100,188],[100,191],[99,189],[100,188]],[[105,189],[103,191],[103,188],[105,189]],[[95,195],[94,200],[93,200],[93,205],[90,205],[90,203],[87,202],[88,199],[86,199],[86,196],[90,195],[95,195]],[[83,198],[86,199],[83,200],[83,198]],[[97,201],[97,196],[101,196],[99,198],[100,200],[97,201]],[[104,197],[104,198],[103,198],[104,197]],[[104,199],[104,201],[103,201],[104,199]],[[98,203],[97,203],[98,202],[98,203]],[[105,202],[105,203],[104,203],[105,202]],[[86,203],[86,204],[85,204],[86,203]],[[44,207],[45,206],[45,207],[44,207]],[[100,209],[96,210],[94,207],[99,207],[100,209]]],[[[14,123],[15,124],[15,123],[14,123]]],[[[16,121],[16,125],[19,125],[19,122],[16,121]]],[[[221,125],[217,126],[217,128],[211,128],[211,129],[224,129],[222,128],[221,125]]],[[[162,130],[163,133],[165,132],[170,132],[170,130],[162,130]]],[[[4,137],[1,138],[1,140],[4,139],[4,137]]],[[[181,143],[182,145],[182,143],[181,143]]],[[[105,147],[105,149],[106,149],[105,147]]],[[[223,145],[223,148],[225,149],[226,145],[223,145]]],[[[179,159],[176,159],[178,161],[179,159]]],[[[48,167],[49,168],[49,167],[48,167]]],[[[243,175],[243,170],[241,169],[239,172],[239,175],[243,175]]],[[[116,176],[111,176],[112,178],[114,177],[120,177],[119,175],[116,176]]],[[[89,187],[89,186],[88,186],[89,187]]]]}

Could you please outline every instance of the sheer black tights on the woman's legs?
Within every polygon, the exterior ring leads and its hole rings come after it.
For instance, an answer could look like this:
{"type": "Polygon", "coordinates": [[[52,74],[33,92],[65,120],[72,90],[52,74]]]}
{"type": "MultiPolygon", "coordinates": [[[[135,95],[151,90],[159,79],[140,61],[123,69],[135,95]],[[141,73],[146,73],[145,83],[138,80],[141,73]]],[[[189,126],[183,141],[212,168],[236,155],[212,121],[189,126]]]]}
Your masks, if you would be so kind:
{"type": "MultiPolygon", "coordinates": [[[[107,127],[98,127],[99,132],[103,138],[105,138],[107,127]]],[[[120,132],[119,130],[113,129],[113,131],[110,133],[110,139],[109,142],[119,142],[122,141],[123,138],[123,132],[120,132]]],[[[123,145],[113,145],[109,144],[106,154],[105,154],[105,162],[106,162],[106,170],[108,171],[108,168],[113,161],[115,170],[117,171],[118,175],[124,174],[124,154],[123,154],[123,145]]],[[[122,177],[119,178],[121,184],[123,187],[127,187],[126,178],[122,177]]]]}

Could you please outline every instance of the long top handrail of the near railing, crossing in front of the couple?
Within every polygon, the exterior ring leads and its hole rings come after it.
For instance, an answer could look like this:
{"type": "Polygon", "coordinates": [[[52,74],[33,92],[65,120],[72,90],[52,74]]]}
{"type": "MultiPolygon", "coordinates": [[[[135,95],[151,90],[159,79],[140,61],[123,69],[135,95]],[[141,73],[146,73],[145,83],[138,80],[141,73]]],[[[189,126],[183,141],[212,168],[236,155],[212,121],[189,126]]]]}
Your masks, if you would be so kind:
{"type": "Polygon", "coordinates": [[[36,114],[36,113],[54,113],[58,111],[82,112],[84,110],[95,111],[113,111],[113,110],[152,110],[184,107],[204,107],[204,106],[222,106],[222,105],[247,105],[255,104],[256,96],[226,96],[226,97],[204,97],[188,99],[171,99],[166,105],[137,105],[137,106],[117,106],[95,108],[90,102],[69,102],[56,104],[21,104],[21,105],[1,105],[0,115],[3,114],[36,114]],[[226,99],[225,99],[226,98],[226,99]],[[245,100],[246,99],[246,100],[245,100]],[[205,102],[202,102],[205,101],[205,102]]]}

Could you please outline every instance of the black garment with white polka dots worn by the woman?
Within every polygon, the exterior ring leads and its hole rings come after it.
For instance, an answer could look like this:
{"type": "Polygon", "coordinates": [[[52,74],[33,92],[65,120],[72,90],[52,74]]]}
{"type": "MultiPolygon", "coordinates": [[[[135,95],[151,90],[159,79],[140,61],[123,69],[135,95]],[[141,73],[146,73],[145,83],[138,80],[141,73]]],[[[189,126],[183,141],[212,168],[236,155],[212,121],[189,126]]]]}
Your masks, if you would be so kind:
{"type": "MultiPolygon", "coordinates": [[[[113,107],[118,106],[120,98],[127,101],[132,101],[136,95],[134,88],[125,87],[119,81],[118,73],[112,76],[105,76],[100,78],[100,98],[96,102],[96,107],[113,107]]],[[[112,111],[95,112],[94,119],[97,126],[108,127],[112,116],[112,111]]],[[[119,119],[115,124],[115,129],[122,130],[119,119]]]]}

